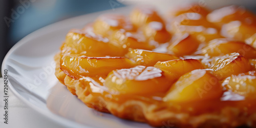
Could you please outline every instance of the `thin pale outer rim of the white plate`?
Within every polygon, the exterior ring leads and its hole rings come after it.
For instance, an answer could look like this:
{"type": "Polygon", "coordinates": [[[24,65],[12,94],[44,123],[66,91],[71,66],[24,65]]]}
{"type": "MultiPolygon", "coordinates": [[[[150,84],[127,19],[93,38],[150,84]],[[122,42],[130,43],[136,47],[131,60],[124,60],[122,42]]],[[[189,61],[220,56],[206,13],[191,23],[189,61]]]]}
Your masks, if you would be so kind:
{"type": "MultiPolygon", "coordinates": [[[[115,8],[115,12],[118,12],[118,10],[123,10],[123,9],[131,9],[132,6],[125,6],[125,7],[120,7],[120,8],[115,8]]],[[[22,47],[23,45],[25,45],[26,43],[28,43],[29,40],[40,37],[43,34],[47,34],[50,32],[54,32],[54,31],[58,31],[61,28],[57,27],[57,26],[61,26],[61,24],[65,24],[65,23],[69,23],[73,20],[77,20],[79,18],[83,18],[83,17],[89,17],[91,15],[97,15],[97,14],[102,14],[102,13],[109,13],[111,10],[113,9],[109,9],[109,10],[103,10],[103,11],[98,11],[98,12],[93,12],[93,13],[88,13],[88,14],[84,14],[84,15],[79,15],[79,16],[75,16],[75,17],[71,17],[71,18],[67,18],[64,20],[60,20],[59,22],[47,25],[45,27],[42,27],[38,30],[35,30],[34,32],[31,32],[30,34],[28,34],[27,36],[23,37],[22,39],[20,39],[6,54],[6,56],[4,57],[4,60],[2,62],[2,76],[4,76],[4,70],[6,67],[6,63],[7,60],[9,59],[9,56],[15,52],[16,49],[18,49],[19,47],[22,47]],[[59,29],[52,29],[52,28],[59,28],[59,29]],[[47,32],[46,32],[47,30],[47,32]],[[48,31],[50,30],[50,31],[48,31]]],[[[114,13],[115,13],[114,12],[114,13]]],[[[113,12],[112,12],[113,13],[113,12]]],[[[85,24],[84,24],[85,25],[85,24]]],[[[75,25],[71,25],[71,26],[78,26],[77,24],[75,25]]],[[[71,27],[70,26],[70,27],[71,27]]],[[[8,78],[9,79],[9,78],[8,78]]],[[[38,114],[43,115],[45,118],[51,119],[51,121],[61,125],[61,126],[75,126],[75,127],[92,127],[90,125],[87,124],[81,124],[79,122],[75,122],[72,120],[69,120],[65,117],[61,117],[57,114],[54,114],[52,112],[45,112],[45,110],[42,111],[42,109],[40,109],[38,106],[34,105],[33,103],[29,102],[27,99],[25,99],[22,95],[20,95],[12,86],[12,83],[10,83],[10,81],[8,80],[8,88],[10,88],[11,92],[14,94],[14,96],[16,96],[19,100],[21,100],[23,103],[25,103],[27,106],[29,106],[29,108],[33,109],[34,111],[36,111],[38,114]]]]}

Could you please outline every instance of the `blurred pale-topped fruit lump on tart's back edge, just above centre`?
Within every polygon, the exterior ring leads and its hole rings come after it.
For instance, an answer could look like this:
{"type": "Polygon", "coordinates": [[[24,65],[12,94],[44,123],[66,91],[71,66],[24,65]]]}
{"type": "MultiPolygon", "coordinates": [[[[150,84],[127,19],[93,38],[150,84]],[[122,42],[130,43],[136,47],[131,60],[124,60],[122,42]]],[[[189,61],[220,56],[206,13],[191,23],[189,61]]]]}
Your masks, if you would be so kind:
{"type": "Polygon", "coordinates": [[[164,23],[163,19],[157,14],[156,9],[150,6],[135,8],[130,14],[130,19],[136,27],[141,27],[150,22],[164,23]]]}

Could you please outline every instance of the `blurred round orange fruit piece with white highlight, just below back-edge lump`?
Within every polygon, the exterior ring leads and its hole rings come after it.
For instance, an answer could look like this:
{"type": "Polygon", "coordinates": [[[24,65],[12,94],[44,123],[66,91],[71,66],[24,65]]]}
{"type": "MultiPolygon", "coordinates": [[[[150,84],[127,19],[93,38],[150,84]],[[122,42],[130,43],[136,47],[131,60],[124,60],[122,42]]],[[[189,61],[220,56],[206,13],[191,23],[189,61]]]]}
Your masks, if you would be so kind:
{"type": "Polygon", "coordinates": [[[164,25],[160,22],[150,22],[143,27],[143,34],[147,40],[155,40],[159,43],[165,43],[170,40],[170,33],[166,31],[164,25]]]}

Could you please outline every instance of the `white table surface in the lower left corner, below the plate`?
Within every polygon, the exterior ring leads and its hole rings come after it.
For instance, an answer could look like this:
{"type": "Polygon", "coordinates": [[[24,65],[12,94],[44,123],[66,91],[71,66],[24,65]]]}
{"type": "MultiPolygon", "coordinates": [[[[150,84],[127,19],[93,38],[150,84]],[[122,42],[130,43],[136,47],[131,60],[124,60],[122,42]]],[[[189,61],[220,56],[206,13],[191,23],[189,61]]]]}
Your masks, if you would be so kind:
{"type": "Polygon", "coordinates": [[[0,127],[64,127],[40,115],[8,90],[8,124],[4,123],[4,80],[0,78],[0,127]]]}

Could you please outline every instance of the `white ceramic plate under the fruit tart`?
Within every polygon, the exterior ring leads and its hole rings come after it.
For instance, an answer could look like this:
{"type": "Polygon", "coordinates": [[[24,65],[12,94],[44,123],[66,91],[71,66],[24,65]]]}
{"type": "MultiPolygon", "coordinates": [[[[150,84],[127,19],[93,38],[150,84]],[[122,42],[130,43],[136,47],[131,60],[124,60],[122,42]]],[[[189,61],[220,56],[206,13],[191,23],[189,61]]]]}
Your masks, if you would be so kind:
{"type": "Polygon", "coordinates": [[[6,55],[9,88],[32,109],[66,127],[151,127],[96,112],[72,95],[55,77],[54,55],[72,28],[82,28],[102,13],[127,13],[131,7],[83,15],[39,29],[6,55]]]}

